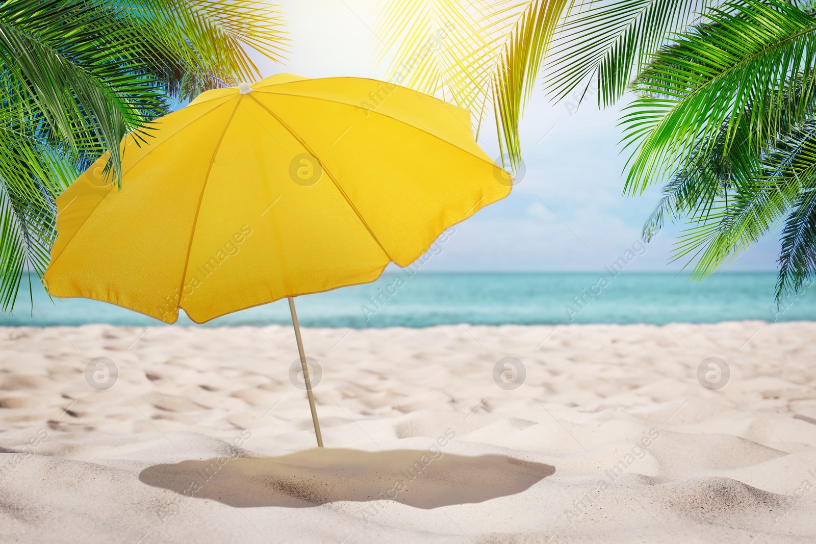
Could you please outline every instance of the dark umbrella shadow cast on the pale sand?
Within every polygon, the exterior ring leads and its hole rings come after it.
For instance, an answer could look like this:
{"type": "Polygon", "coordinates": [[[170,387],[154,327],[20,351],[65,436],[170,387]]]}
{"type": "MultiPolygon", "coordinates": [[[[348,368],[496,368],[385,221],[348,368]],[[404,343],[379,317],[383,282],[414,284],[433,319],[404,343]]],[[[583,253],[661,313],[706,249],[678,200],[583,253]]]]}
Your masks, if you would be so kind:
{"type": "Polygon", "coordinates": [[[392,499],[429,509],[521,493],[555,471],[552,465],[503,455],[316,448],[281,457],[154,465],[139,480],[231,506],[298,508],[392,499]]]}

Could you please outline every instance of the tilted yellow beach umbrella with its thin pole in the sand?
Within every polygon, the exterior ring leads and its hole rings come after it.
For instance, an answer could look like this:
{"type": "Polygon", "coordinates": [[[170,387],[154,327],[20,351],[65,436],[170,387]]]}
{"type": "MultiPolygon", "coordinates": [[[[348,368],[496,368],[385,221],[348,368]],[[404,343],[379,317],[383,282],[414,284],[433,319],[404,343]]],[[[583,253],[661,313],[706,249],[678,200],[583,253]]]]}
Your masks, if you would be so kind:
{"type": "Polygon", "coordinates": [[[45,273],[55,297],[196,323],[375,281],[511,180],[470,114],[359,77],[279,74],[206,91],[122,141],[122,187],[100,157],[59,198],[45,273]]]}

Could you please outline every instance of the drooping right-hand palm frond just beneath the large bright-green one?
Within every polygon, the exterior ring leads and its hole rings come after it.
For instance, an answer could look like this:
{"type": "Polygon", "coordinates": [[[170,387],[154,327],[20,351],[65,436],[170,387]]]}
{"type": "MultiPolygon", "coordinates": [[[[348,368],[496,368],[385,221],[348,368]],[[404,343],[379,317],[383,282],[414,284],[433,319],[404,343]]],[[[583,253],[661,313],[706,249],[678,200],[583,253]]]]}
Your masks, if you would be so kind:
{"type": "MultiPolygon", "coordinates": [[[[813,120],[790,130],[751,164],[733,160],[751,157],[738,148],[744,135],[728,155],[722,153],[724,139],[715,146],[715,153],[690,157],[688,165],[663,189],[663,198],[644,227],[644,234],[652,237],[666,220],[685,220],[689,227],[681,232],[672,260],[687,259],[685,266],[693,263],[692,280],[703,280],[730,263],[786,215],[790,224],[791,210],[806,207],[796,202],[802,202],[802,195],[816,187],[813,120]]],[[[805,246],[792,254],[802,254],[805,246]]],[[[811,245],[810,251],[814,250],[816,246],[811,245]]],[[[783,243],[780,263],[791,262],[785,254],[783,243]]],[[[804,268],[794,268],[794,272],[780,268],[780,293],[791,288],[788,277],[804,277],[804,268]]]]}

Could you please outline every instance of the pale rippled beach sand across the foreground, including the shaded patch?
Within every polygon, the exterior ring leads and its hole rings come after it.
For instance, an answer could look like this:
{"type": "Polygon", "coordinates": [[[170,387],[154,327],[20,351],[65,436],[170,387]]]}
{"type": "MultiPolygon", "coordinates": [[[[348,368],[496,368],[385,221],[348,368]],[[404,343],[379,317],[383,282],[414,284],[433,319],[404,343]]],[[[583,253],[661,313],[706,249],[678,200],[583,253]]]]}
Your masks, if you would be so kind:
{"type": "Polygon", "coordinates": [[[144,330],[0,329],[0,541],[816,542],[816,323],[304,329],[324,450],[290,328],[144,330]]]}

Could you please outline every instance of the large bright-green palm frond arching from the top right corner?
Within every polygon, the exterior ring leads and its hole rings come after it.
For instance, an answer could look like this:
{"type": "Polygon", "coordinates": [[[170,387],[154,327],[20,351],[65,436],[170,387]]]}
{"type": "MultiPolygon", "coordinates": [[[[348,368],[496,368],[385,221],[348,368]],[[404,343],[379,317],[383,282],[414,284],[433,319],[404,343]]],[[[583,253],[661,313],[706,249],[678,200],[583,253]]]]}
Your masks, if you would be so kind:
{"type": "Polygon", "coordinates": [[[816,19],[783,0],[725,8],[709,10],[711,23],[664,47],[638,78],[641,96],[622,120],[623,141],[636,146],[626,191],[642,192],[695,148],[701,157],[714,153],[717,141],[728,153],[739,138],[758,156],[784,126],[807,117],[816,91],[816,19]]]}

